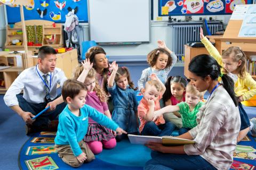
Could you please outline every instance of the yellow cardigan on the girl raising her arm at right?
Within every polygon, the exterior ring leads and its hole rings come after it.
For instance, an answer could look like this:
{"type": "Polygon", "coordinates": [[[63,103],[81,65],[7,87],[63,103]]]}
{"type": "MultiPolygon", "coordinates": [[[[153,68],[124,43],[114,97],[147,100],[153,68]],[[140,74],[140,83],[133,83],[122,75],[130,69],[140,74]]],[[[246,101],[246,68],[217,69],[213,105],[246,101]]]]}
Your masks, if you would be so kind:
{"type": "MultiPolygon", "coordinates": [[[[221,72],[223,72],[222,57],[218,50],[212,45],[212,43],[204,37],[202,40],[207,51],[210,55],[222,66],[221,72]]],[[[252,76],[246,72],[245,78],[239,78],[235,82],[235,93],[236,96],[242,96],[244,100],[248,100],[256,95],[256,81],[253,80],[252,76]]]]}

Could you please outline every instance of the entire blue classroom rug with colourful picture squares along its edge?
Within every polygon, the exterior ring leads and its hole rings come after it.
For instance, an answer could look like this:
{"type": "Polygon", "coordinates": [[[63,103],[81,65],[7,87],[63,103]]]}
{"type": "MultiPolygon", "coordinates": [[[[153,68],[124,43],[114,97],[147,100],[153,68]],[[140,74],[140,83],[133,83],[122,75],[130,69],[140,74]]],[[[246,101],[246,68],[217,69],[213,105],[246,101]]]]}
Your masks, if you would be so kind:
{"type": "MultiPolygon", "coordinates": [[[[70,169],[54,149],[55,134],[36,133],[22,146],[19,153],[20,169],[70,169]]],[[[143,169],[150,159],[150,149],[132,145],[128,139],[117,143],[114,149],[103,149],[91,163],[79,169],[143,169]]],[[[256,170],[256,138],[250,134],[239,142],[230,169],[256,170]]]]}

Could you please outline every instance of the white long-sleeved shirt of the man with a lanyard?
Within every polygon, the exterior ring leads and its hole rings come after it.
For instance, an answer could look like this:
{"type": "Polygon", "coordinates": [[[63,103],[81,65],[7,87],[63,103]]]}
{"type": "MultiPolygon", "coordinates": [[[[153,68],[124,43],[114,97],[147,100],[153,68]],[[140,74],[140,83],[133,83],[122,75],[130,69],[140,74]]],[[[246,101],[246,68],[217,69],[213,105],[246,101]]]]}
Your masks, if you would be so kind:
{"type": "MultiPolygon", "coordinates": [[[[37,66],[37,70],[41,77],[43,78],[44,73],[42,73],[37,66]]],[[[47,80],[49,82],[50,87],[50,72],[48,73],[47,80]]],[[[44,78],[43,78],[44,79],[44,78]]],[[[57,84],[60,84],[62,87],[63,83],[67,80],[64,72],[59,69],[55,68],[52,72],[51,76],[51,91],[50,91],[50,98],[53,100],[57,97],[57,84]]],[[[7,106],[15,106],[19,105],[18,99],[16,95],[20,94],[23,90],[23,98],[25,98],[28,103],[44,103],[46,90],[45,84],[43,80],[40,78],[36,71],[36,66],[30,67],[26,70],[23,70],[20,75],[14,80],[11,87],[6,91],[4,95],[4,102],[7,106]]]]}

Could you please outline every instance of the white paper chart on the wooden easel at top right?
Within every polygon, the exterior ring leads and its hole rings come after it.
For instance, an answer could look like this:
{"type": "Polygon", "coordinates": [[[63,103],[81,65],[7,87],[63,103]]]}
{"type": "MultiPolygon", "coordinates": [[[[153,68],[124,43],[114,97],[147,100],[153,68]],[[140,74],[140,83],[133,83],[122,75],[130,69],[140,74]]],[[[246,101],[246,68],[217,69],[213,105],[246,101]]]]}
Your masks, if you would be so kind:
{"type": "Polygon", "coordinates": [[[238,37],[256,37],[256,5],[249,5],[238,37]]]}

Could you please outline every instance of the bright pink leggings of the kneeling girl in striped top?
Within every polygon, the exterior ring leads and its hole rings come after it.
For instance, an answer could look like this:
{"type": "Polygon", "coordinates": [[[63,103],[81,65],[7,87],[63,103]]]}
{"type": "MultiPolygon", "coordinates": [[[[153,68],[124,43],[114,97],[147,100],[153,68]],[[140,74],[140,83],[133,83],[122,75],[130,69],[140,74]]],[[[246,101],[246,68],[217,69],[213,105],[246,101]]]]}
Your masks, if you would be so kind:
{"type": "Polygon", "coordinates": [[[112,138],[109,141],[91,141],[87,142],[87,145],[92,150],[93,154],[100,154],[102,152],[102,145],[106,149],[113,149],[116,146],[116,139],[112,138]]]}

